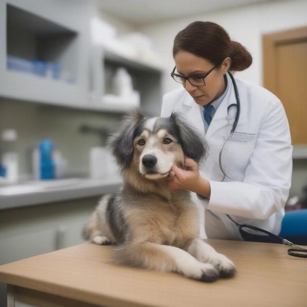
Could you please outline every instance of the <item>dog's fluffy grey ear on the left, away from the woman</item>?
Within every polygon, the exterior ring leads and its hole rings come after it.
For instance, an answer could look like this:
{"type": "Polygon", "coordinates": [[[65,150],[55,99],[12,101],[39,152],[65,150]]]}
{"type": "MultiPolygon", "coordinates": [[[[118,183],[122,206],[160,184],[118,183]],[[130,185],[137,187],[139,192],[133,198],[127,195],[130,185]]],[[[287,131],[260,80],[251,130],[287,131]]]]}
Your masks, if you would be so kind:
{"type": "Polygon", "coordinates": [[[135,132],[144,118],[140,109],[135,109],[123,117],[119,130],[107,139],[107,147],[111,149],[121,170],[128,167],[133,159],[135,132]]]}

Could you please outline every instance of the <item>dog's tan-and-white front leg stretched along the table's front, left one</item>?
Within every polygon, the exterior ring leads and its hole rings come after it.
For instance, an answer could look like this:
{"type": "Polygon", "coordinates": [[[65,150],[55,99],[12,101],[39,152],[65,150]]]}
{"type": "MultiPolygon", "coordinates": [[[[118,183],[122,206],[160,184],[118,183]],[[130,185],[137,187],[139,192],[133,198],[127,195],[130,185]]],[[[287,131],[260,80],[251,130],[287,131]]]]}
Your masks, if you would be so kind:
{"type": "Polygon", "coordinates": [[[115,263],[161,272],[174,271],[201,281],[214,281],[219,276],[212,264],[200,262],[180,248],[151,242],[116,247],[115,263]]]}

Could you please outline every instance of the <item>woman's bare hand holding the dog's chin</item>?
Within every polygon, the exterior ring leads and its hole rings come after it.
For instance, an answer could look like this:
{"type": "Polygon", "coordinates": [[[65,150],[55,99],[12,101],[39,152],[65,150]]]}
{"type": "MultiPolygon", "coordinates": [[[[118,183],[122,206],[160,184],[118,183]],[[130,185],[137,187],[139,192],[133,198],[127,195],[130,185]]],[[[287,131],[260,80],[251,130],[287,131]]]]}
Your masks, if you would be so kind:
{"type": "Polygon", "coordinates": [[[189,190],[205,197],[210,197],[211,189],[208,180],[201,177],[198,164],[190,159],[185,159],[187,170],[173,165],[168,174],[168,186],[172,189],[189,190]]]}

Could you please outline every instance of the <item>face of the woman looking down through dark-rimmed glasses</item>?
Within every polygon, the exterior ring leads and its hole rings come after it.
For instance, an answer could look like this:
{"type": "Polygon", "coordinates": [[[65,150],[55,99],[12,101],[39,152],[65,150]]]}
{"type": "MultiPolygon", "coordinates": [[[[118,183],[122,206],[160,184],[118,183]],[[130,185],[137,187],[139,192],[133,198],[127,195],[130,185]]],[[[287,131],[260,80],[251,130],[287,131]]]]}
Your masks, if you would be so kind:
{"type": "MultiPolygon", "coordinates": [[[[201,76],[209,71],[214,64],[205,58],[196,56],[188,51],[180,50],[175,56],[176,70],[178,74],[185,77],[190,75],[201,76]]],[[[214,99],[220,97],[226,88],[224,75],[230,67],[230,58],[224,59],[222,65],[215,68],[205,78],[206,85],[195,86],[188,80],[183,84],[185,90],[193,97],[199,105],[206,105],[214,99]]]]}

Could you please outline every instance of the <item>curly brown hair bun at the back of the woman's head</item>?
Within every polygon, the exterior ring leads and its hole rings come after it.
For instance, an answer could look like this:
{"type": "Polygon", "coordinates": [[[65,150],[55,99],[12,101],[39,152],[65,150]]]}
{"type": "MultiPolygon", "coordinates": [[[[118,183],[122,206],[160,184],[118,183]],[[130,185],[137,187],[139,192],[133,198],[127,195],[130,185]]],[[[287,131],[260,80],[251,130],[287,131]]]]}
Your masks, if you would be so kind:
{"type": "Polygon", "coordinates": [[[231,41],[231,71],[243,71],[250,67],[253,58],[247,49],[237,41],[231,41]]]}

